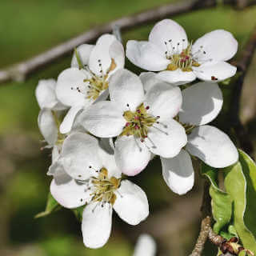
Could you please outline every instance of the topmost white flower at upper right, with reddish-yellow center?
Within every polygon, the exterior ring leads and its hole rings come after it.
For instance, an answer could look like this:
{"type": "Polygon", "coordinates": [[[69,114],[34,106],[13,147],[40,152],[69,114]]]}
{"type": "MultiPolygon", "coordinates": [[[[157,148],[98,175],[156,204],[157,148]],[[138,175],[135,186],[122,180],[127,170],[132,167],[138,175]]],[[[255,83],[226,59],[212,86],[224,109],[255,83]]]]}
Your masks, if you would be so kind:
{"type": "Polygon", "coordinates": [[[182,85],[195,78],[219,82],[232,77],[236,67],[226,61],[237,50],[238,42],[226,30],[207,33],[192,45],[182,26],[164,19],[151,30],[149,41],[128,41],[126,56],[144,70],[160,71],[163,81],[182,85]]]}

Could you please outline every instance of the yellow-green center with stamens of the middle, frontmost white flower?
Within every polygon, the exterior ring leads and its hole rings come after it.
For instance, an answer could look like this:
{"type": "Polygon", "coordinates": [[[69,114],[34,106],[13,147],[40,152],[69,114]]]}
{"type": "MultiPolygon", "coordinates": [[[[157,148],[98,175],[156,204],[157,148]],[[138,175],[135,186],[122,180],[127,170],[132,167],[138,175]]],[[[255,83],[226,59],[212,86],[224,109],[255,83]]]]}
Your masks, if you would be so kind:
{"type": "MultiPolygon", "coordinates": [[[[127,104],[129,107],[129,105],[127,104]]],[[[147,113],[149,110],[149,106],[144,106],[142,103],[135,112],[130,110],[126,111],[123,114],[123,117],[126,119],[126,126],[122,130],[122,134],[120,136],[130,136],[134,135],[137,138],[147,138],[148,129],[150,126],[153,126],[155,122],[157,122],[159,116],[154,117],[147,113]]]]}

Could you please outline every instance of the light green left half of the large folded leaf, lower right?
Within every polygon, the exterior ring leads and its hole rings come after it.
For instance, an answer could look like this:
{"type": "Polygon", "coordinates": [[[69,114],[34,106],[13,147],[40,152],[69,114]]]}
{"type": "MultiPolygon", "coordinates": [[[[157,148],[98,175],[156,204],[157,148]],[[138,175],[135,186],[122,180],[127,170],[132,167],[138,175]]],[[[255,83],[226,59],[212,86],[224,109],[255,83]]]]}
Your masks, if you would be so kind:
{"type": "MultiPolygon", "coordinates": [[[[240,161],[242,154],[240,153],[240,161]]],[[[243,174],[242,165],[237,162],[233,166],[225,168],[224,184],[226,192],[230,194],[234,202],[234,227],[242,240],[243,246],[256,253],[256,241],[254,235],[248,230],[244,222],[246,212],[246,176],[243,174]]]]}

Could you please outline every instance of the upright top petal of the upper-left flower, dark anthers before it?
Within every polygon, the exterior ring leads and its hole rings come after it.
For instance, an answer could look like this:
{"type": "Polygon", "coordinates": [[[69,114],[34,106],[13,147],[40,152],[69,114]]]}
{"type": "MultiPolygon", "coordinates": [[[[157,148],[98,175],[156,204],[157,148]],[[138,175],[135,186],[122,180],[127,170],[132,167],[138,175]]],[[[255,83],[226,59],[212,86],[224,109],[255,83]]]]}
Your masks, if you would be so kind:
{"type": "Polygon", "coordinates": [[[110,46],[116,40],[117,38],[113,34],[103,34],[98,38],[94,49],[90,53],[89,59],[89,68],[94,74],[98,76],[102,75],[101,70],[103,74],[106,74],[106,71],[110,68],[110,46]]]}

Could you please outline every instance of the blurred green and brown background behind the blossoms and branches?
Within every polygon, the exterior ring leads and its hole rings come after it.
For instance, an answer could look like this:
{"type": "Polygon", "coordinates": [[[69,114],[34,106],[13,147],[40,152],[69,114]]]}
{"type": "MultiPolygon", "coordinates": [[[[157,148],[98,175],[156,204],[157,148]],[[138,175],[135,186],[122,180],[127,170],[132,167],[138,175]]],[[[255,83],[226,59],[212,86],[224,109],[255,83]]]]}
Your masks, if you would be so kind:
{"type": "MultiPolygon", "coordinates": [[[[39,54],[95,25],[168,2],[178,1],[1,0],[0,68],[39,54]]],[[[210,30],[229,30],[238,39],[241,51],[256,25],[255,17],[256,6],[234,10],[220,5],[175,16],[174,20],[185,28],[190,40],[210,30]]],[[[146,39],[152,26],[122,34],[123,42],[146,39]]],[[[42,136],[38,131],[39,108],[34,89],[38,79],[57,78],[70,66],[70,57],[39,70],[26,82],[0,85],[0,255],[128,256],[132,255],[134,243],[142,232],[156,238],[159,255],[189,254],[199,230],[202,181],[197,180],[186,196],[177,196],[163,182],[158,159],[133,178],[148,195],[150,218],[134,227],[114,216],[110,241],[100,250],[83,246],[80,223],[69,210],[34,219],[45,208],[50,185],[50,177],[46,176],[50,150],[40,150],[42,136]]],[[[242,122],[254,140],[255,73],[252,66],[246,78],[241,110],[242,122]]],[[[208,245],[205,254],[216,252],[208,245]]]]}

